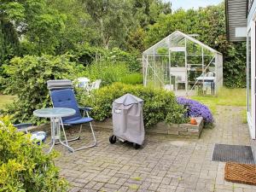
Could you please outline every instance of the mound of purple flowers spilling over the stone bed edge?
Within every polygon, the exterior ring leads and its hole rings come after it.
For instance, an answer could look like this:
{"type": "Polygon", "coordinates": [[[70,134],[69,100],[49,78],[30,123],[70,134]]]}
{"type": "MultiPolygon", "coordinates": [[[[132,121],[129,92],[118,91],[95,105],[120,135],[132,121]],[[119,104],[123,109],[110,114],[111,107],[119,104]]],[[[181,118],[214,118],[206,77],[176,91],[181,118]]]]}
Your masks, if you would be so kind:
{"type": "Polygon", "coordinates": [[[213,123],[212,112],[207,106],[181,96],[177,97],[177,102],[180,105],[188,106],[190,117],[202,117],[206,123],[213,123]]]}

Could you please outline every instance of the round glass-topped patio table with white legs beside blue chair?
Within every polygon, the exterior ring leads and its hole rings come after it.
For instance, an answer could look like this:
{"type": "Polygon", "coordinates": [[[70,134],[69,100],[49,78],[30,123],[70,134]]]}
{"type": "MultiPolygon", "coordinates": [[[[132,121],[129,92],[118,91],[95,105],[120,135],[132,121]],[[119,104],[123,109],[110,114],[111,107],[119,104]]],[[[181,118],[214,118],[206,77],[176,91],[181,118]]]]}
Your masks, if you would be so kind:
{"type": "Polygon", "coordinates": [[[54,148],[56,141],[67,147],[68,150],[74,152],[74,149],[71,148],[67,143],[64,126],[61,125],[61,118],[72,116],[75,113],[76,111],[73,108],[42,108],[33,112],[33,114],[37,117],[50,119],[51,146],[48,153],[52,150],[52,148],[54,148]],[[64,142],[61,140],[61,128],[65,137],[64,142]]]}

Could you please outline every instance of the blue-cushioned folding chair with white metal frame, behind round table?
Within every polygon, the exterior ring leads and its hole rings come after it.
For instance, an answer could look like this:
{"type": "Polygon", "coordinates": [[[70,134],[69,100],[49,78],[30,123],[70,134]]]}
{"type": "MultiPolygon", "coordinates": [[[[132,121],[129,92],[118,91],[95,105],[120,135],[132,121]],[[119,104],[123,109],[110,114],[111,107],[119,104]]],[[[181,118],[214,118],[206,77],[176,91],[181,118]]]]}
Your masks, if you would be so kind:
{"type": "Polygon", "coordinates": [[[49,80],[47,81],[47,87],[49,89],[49,94],[50,94],[51,101],[54,108],[73,108],[76,111],[76,113],[73,116],[61,118],[61,126],[63,128],[62,130],[64,131],[64,136],[66,136],[64,125],[66,126],[80,125],[79,137],[67,139],[67,142],[73,142],[73,141],[79,140],[81,138],[81,131],[83,128],[83,124],[89,123],[90,125],[90,131],[92,133],[93,143],[90,144],[89,146],[74,148],[73,151],[82,150],[84,148],[92,148],[96,146],[96,137],[91,125],[91,121],[93,121],[93,119],[90,118],[89,116],[89,112],[92,108],[79,107],[74,95],[73,84],[71,80],[68,80],[68,79],[67,80],[66,79],[49,80]],[[83,112],[83,115],[81,114],[81,112],[83,112]]]}

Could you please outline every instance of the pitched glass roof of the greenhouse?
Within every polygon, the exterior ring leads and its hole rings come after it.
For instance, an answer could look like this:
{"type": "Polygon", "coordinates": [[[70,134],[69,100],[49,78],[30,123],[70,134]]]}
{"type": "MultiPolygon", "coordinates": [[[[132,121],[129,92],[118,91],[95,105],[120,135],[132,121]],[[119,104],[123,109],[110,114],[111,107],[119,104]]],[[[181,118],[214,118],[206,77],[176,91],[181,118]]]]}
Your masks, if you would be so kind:
{"type": "Polygon", "coordinates": [[[157,44],[154,44],[152,47],[145,50],[143,52],[143,55],[154,54],[155,49],[159,49],[161,47],[171,48],[172,44],[178,44],[183,39],[188,39],[189,41],[194,42],[195,44],[199,44],[201,47],[211,51],[212,53],[221,54],[221,53],[218,52],[218,50],[212,49],[207,44],[203,44],[201,41],[199,41],[195,38],[192,38],[191,36],[189,36],[189,35],[187,35],[183,32],[176,31],[176,32],[172,32],[172,34],[170,34],[166,38],[163,38],[162,40],[160,40],[160,42],[158,42],[157,44]]]}

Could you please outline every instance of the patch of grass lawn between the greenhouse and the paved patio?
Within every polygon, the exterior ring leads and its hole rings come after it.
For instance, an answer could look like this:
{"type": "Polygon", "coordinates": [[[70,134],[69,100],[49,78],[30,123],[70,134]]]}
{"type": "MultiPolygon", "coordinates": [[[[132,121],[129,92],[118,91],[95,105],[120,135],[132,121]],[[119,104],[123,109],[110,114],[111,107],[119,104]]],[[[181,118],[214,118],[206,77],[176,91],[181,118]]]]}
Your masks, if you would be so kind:
{"type": "MultiPolygon", "coordinates": [[[[246,89],[228,89],[221,88],[218,90],[217,96],[192,96],[191,99],[207,105],[212,113],[216,113],[218,105],[222,106],[247,106],[247,90],[246,89]]],[[[244,123],[247,123],[247,112],[244,109],[241,113],[244,123]]]]}

